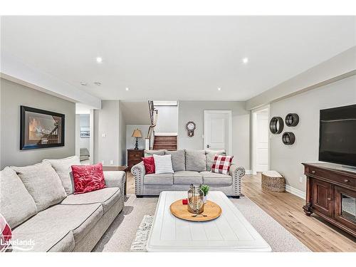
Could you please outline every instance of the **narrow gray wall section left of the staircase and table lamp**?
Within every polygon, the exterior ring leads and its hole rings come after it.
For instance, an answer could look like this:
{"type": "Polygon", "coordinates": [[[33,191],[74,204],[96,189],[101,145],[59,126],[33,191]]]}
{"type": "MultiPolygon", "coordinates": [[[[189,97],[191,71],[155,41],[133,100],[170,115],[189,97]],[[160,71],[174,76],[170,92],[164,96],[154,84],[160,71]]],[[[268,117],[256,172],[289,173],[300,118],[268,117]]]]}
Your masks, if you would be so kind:
{"type": "Polygon", "coordinates": [[[94,110],[94,163],[118,165],[120,162],[119,100],[103,100],[94,110]],[[105,137],[103,136],[105,135],[105,137]]]}

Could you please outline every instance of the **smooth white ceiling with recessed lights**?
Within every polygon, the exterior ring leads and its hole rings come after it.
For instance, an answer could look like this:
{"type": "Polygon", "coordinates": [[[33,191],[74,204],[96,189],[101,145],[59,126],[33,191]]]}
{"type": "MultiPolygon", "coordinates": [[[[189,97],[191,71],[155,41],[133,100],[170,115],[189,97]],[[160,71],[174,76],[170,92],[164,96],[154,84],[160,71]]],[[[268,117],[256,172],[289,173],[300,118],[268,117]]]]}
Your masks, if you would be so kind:
{"type": "Polygon", "coordinates": [[[1,17],[1,53],[104,100],[248,100],[352,46],[351,16],[1,17]]]}

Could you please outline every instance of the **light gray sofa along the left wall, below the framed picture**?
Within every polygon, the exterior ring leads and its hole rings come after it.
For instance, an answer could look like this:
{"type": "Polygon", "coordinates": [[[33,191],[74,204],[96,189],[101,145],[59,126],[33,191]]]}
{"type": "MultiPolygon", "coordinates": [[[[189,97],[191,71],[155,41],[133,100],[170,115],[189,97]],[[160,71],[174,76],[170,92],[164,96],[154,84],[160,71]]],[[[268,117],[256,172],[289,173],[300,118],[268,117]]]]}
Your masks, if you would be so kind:
{"type": "Polygon", "coordinates": [[[1,171],[0,213],[13,251],[91,251],[124,206],[125,172],[104,172],[106,188],[73,194],[78,157],[1,171]]]}

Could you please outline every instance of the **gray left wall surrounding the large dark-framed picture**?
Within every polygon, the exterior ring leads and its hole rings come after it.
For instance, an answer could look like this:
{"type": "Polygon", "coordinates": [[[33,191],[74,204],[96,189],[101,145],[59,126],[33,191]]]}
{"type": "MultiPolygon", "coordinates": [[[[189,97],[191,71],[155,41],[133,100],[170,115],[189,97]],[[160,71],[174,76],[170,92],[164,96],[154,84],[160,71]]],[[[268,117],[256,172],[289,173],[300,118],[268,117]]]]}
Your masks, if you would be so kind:
{"type": "Polygon", "coordinates": [[[75,155],[75,103],[33,90],[0,78],[1,95],[1,169],[9,165],[28,165],[45,158],[75,155]],[[66,115],[64,147],[20,150],[20,105],[51,110],[66,115]]]}

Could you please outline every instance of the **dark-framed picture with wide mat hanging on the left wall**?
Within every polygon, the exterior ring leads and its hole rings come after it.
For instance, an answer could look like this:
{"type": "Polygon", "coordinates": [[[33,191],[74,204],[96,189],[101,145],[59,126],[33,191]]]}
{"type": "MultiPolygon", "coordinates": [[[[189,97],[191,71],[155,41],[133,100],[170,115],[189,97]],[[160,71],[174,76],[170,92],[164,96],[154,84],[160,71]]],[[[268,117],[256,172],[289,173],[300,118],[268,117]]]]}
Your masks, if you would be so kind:
{"type": "Polygon", "coordinates": [[[20,125],[20,150],[64,147],[64,114],[21,105],[20,125]]]}

